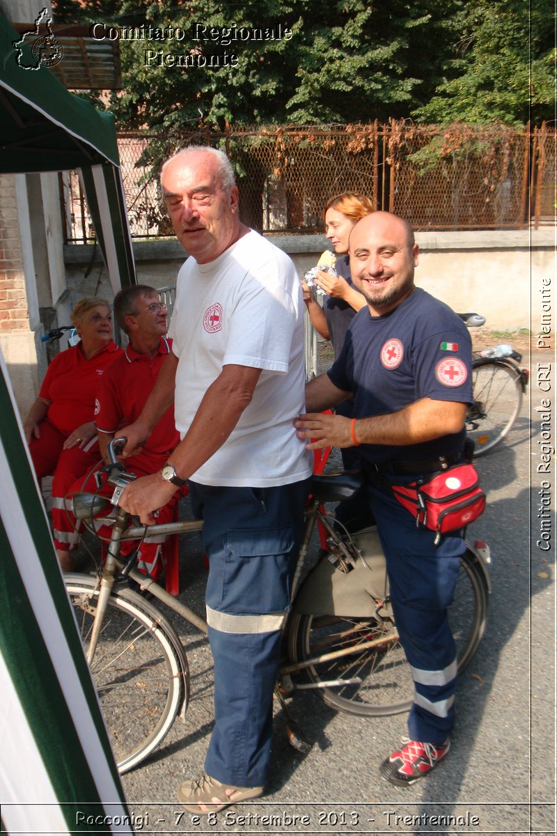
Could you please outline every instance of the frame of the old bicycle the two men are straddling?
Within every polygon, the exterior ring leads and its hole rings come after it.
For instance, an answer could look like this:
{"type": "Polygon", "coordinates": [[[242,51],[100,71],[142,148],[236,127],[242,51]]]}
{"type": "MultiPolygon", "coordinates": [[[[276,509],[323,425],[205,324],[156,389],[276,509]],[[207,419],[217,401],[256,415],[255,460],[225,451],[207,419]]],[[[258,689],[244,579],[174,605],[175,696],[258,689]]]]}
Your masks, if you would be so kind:
{"type": "MultiPolygon", "coordinates": [[[[122,440],[114,440],[109,446],[109,457],[111,463],[118,466],[112,445],[117,446],[122,440]]],[[[109,482],[115,486],[112,499],[103,499],[105,502],[118,502],[119,495],[129,481],[129,475],[119,473],[109,477],[109,482]]],[[[302,614],[319,615],[345,615],[347,611],[356,619],[374,618],[378,621],[392,622],[392,609],[389,603],[389,591],[387,581],[387,568],[382,553],[377,530],[366,529],[364,532],[353,536],[346,533],[343,536],[329,522],[330,515],[327,513],[324,503],[335,502],[342,498],[342,492],[355,491],[359,485],[357,475],[350,472],[332,474],[329,476],[316,476],[305,509],[305,522],[301,537],[300,549],[296,561],[296,568],[291,585],[291,611],[302,614]],[[311,569],[304,583],[300,585],[301,575],[306,563],[307,553],[311,543],[316,523],[322,529],[322,543],[327,542],[330,551],[329,560],[322,560],[311,569]],[[375,538],[375,540],[373,539],[375,538]],[[360,548],[362,547],[362,548],[360,548]],[[372,565],[370,565],[372,563],[372,565]],[[337,564],[337,565],[335,565],[337,564]],[[374,571],[370,571],[373,569],[374,571]],[[340,571],[339,571],[340,570],[340,571]]],[[[79,496],[79,495],[78,495],[79,496]]],[[[87,497],[83,502],[83,508],[91,515],[94,502],[99,500],[96,495],[81,494],[87,497]]],[[[76,517],[84,518],[84,512],[79,512],[74,506],[76,517]]],[[[143,525],[128,526],[129,515],[123,509],[117,507],[114,517],[113,530],[110,538],[108,555],[100,573],[100,591],[97,604],[94,627],[89,641],[87,659],[89,664],[94,657],[97,640],[102,630],[104,614],[106,611],[109,596],[114,588],[116,573],[123,573],[124,576],[134,580],[139,588],[149,591],[154,598],[166,604],[175,613],[190,622],[200,632],[207,634],[205,619],[200,618],[188,606],[175,599],[157,584],[153,579],[140,573],[131,566],[126,566],[119,559],[121,543],[129,539],[142,539],[146,528],[143,525]]],[[[107,519],[107,523],[109,520],[107,519]]],[[[203,528],[203,520],[181,521],[177,523],[155,523],[149,526],[149,534],[179,534],[186,532],[199,532],[203,528]]],[[[484,543],[482,543],[484,546],[484,543]]],[[[489,575],[485,568],[484,559],[479,555],[478,548],[468,548],[475,553],[477,562],[484,573],[487,588],[489,589],[489,575]]],[[[484,546],[484,548],[487,548],[484,546]]],[[[488,558],[489,560],[489,558],[488,558]]],[[[285,620],[286,624],[287,619],[285,620]]],[[[295,671],[303,670],[318,661],[332,660],[342,656],[361,653],[363,650],[371,649],[378,645],[385,645],[387,642],[397,641],[398,634],[394,627],[392,632],[382,634],[380,638],[369,639],[359,643],[357,646],[347,646],[341,650],[324,654],[318,658],[311,658],[301,662],[283,665],[279,671],[279,677],[287,676],[295,671]]],[[[342,685],[344,682],[338,680],[335,684],[342,685]]],[[[332,685],[332,683],[327,683],[332,685]]],[[[322,687],[323,684],[313,683],[302,687],[322,687]]],[[[299,687],[299,686],[298,686],[299,687]]]]}

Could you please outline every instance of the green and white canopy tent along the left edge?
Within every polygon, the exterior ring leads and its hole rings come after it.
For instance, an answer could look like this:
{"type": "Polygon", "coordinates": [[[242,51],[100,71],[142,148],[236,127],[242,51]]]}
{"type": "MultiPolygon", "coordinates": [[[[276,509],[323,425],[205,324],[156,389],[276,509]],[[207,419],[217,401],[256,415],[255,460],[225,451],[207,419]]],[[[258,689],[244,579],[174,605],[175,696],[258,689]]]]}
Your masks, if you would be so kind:
{"type": "MultiPolygon", "coordinates": [[[[110,281],[133,283],[112,117],[19,66],[14,40],[0,13],[0,171],[87,172],[110,281]]],[[[0,473],[1,829],[133,833],[1,352],[0,473]]]]}

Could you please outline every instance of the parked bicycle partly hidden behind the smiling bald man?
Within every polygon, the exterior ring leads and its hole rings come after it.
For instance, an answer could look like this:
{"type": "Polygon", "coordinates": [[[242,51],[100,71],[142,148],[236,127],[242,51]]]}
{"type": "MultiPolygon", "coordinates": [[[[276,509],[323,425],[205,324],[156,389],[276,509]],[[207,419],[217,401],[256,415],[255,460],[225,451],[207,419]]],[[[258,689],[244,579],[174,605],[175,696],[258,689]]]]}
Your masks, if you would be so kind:
{"type": "MultiPolygon", "coordinates": [[[[479,314],[458,314],[468,328],[479,328],[479,314]]],[[[473,352],[473,405],[466,416],[466,433],[474,443],[474,456],[484,456],[503,441],[518,418],[528,385],[529,371],[519,363],[522,354],[512,346],[473,352]],[[497,351],[501,354],[496,354],[497,351]],[[504,353],[503,353],[504,351],[504,353]]]]}

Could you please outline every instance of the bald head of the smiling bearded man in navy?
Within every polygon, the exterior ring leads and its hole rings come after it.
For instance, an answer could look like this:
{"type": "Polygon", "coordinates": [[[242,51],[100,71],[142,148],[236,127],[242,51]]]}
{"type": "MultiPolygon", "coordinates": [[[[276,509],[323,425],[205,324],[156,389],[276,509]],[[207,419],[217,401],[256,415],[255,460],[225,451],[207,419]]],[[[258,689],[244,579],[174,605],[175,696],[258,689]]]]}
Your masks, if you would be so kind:
{"type": "Polygon", "coordinates": [[[413,292],[418,244],[408,221],[373,212],[352,227],[349,247],[352,283],[372,316],[387,314],[413,292]]]}

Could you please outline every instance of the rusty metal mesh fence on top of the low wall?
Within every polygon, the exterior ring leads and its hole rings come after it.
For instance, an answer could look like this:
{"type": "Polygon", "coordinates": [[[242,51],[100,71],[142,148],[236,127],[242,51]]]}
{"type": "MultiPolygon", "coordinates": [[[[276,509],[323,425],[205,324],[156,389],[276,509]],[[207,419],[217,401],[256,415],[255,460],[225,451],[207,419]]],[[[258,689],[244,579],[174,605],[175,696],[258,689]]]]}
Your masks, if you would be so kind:
{"type": "MultiPolygon", "coordinates": [[[[238,127],[179,136],[119,135],[134,237],[172,235],[160,201],[160,161],[185,145],[213,145],[232,161],[241,217],[261,232],[322,230],[322,207],[360,191],[417,230],[519,229],[554,220],[555,130],[506,125],[238,127]]],[[[78,178],[64,181],[68,242],[91,239],[78,178]]]]}

